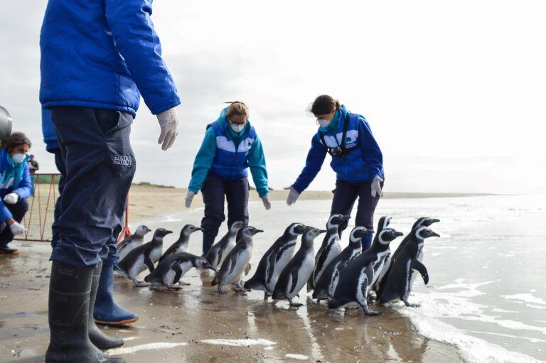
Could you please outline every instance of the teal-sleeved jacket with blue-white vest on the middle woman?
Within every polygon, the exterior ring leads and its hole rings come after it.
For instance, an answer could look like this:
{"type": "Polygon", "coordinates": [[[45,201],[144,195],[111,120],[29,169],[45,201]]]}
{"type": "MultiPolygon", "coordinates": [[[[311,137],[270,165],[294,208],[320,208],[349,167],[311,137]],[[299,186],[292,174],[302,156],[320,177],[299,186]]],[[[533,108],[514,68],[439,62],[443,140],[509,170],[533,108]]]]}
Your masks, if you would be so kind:
{"type": "Polygon", "coordinates": [[[246,178],[250,168],[252,179],[260,197],[269,194],[264,149],[254,126],[247,121],[240,133],[235,133],[225,117],[228,107],[220,117],[207,126],[205,138],[193,163],[188,189],[197,193],[208,173],[225,180],[246,178]]]}

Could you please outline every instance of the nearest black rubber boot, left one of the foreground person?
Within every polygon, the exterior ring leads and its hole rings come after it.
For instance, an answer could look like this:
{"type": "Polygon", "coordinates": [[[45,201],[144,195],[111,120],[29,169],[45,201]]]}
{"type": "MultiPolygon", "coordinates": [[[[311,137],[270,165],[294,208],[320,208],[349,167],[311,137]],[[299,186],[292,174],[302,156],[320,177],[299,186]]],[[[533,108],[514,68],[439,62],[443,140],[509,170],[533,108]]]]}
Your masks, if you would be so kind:
{"type": "Polygon", "coordinates": [[[92,345],[87,333],[89,298],[95,269],[53,261],[49,281],[50,340],[46,363],[124,363],[92,345]]]}

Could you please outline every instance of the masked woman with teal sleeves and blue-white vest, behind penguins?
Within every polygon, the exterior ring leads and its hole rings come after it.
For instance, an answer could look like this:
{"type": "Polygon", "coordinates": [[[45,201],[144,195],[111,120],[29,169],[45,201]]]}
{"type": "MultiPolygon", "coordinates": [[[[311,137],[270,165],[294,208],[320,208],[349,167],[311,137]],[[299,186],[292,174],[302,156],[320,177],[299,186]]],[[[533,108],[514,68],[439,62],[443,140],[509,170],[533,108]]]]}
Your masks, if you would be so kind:
{"type": "Polygon", "coordinates": [[[201,221],[203,256],[213,246],[225,220],[225,199],[228,200],[228,226],[236,221],[248,224],[247,168],[265,209],[271,208],[264,150],[248,115],[248,108],[242,102],[231,102],[225,107],[220,117],[207,126],[193,163],[186,207],[191,206],[193,197],[201,190],[205,203],[205,217],[201,221]]]}

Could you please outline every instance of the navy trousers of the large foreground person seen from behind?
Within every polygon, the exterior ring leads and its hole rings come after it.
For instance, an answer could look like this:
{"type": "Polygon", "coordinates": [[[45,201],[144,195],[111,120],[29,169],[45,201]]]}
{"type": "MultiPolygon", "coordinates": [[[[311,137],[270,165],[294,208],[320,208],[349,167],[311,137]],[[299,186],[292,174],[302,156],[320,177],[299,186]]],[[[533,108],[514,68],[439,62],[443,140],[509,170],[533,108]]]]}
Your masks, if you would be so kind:
{"type": "Polygon", "coordinates": [[[136,163],[133,117],[87,107],[53,107],[61,173],[51,259],[77,267],[117,264],[117,236],[136,163]]]}

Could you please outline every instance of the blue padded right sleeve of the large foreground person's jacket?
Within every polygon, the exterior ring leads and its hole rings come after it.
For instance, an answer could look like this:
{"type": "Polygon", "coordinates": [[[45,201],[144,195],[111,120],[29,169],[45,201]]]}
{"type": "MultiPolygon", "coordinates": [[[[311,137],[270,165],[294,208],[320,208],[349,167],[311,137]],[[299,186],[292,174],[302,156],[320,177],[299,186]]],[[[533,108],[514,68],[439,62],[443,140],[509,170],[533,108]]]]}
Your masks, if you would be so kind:
{"type": "Polygon", "coordinates": [[[151,22],[151,0],[105,0],[105,13],[117,50],[151,113],[178,106],[176,85],[151,22]]]}

